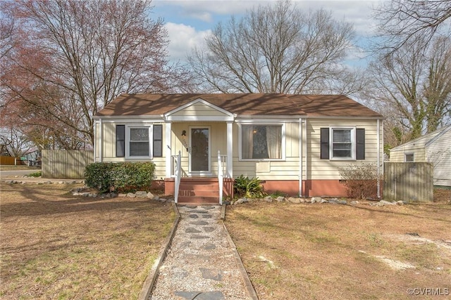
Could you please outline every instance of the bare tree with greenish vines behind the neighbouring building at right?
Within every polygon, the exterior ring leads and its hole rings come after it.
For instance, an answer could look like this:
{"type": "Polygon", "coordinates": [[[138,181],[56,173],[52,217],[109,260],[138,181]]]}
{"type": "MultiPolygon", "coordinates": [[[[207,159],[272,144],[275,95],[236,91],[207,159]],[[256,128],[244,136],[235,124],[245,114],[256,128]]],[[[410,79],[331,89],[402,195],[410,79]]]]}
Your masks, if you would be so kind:
{"type": "Polygon", "coordinates": [[[388,117],[394,143],[451,122],[451,39],[434,37],[424,45],[416,37],[370,65],[373,86],[367,96],[388,117]]]}

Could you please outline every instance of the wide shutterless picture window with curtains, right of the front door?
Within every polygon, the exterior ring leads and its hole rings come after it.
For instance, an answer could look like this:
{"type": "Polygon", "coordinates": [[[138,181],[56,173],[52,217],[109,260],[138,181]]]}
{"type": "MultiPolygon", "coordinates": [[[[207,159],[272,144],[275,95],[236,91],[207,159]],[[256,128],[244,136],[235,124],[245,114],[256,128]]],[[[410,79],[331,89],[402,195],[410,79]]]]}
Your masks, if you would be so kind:
{"type": "Polygon", "coordinates": [[[241,159],[283,159],[282,124],[242,124],[240,127],[241,159]]]}

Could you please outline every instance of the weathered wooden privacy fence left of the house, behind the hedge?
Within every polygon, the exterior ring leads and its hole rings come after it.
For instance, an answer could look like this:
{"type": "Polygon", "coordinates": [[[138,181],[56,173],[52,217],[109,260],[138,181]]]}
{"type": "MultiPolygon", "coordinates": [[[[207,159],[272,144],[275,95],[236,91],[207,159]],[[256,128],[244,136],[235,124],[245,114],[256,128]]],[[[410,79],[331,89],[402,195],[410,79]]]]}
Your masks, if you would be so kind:
{"type": "Polygon", "coordinates": [[[94,162],[87,150],[42,150],[42,177],[85,178],[85,167],[94,162]]]}

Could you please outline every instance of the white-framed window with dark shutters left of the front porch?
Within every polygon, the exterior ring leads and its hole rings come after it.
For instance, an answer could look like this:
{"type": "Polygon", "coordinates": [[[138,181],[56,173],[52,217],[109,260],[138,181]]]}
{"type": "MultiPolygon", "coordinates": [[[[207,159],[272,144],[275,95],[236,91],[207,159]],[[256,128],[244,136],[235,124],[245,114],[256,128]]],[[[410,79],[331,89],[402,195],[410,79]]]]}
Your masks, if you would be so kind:
{"type": "Polygon", "coordinates": [[[162,156],[163,126],[116,125],[116,157],[150,159],[162,156]]]}

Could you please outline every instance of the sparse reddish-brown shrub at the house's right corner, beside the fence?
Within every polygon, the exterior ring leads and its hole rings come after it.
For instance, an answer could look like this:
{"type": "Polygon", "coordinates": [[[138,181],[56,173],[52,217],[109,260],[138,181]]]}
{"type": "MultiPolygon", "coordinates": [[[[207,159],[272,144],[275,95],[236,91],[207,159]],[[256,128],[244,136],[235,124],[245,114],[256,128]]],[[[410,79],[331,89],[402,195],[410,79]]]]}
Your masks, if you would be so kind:
{"type": "Polygon", "coordinates": [[[377,197],[378,170],[376,164],[348,164],[338,168],[345,180],[348,197],[366,199],[377,197]]]}

